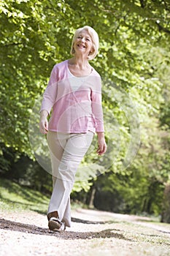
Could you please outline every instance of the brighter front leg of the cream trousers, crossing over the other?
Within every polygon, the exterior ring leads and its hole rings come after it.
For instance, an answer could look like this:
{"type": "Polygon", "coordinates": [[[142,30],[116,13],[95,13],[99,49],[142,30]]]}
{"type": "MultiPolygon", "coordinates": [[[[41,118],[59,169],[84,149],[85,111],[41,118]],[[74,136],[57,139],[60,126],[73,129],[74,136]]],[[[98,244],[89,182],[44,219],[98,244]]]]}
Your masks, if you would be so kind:
{"type": "Polygon", "coordinates": [[[66,143],[63,143],[65,147],[58,170],[55,172],[57,177],[48,213],[58,211],[59,219],[63,220],[68,227],[71,225],[70,193],[74,185],[75,174],[92,139],[92,132],[68,135],[66,143]]]}

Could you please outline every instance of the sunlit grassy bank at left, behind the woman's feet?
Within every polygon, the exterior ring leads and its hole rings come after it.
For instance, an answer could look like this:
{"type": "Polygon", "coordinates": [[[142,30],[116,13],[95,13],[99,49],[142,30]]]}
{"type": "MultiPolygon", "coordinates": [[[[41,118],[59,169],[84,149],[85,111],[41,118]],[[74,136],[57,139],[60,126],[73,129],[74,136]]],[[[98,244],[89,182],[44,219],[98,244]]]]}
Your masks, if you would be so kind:
{"type": "Polygon", "coordinates": [[[1,211],[36,211],[46,214],[49,198],[28,187],[0,178],[1,211]]]}

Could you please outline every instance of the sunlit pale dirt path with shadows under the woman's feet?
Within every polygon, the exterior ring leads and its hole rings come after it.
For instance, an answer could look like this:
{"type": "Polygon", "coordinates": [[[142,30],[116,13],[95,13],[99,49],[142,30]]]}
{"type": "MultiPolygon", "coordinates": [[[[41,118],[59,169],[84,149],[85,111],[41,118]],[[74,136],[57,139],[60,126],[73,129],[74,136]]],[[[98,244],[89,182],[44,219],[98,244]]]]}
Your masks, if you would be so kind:
{"type": "Polygon", "coordinates": [[[168,256],[170,225],[104,211],[72,211],[64,233],[47,229],[47,217],[33,211],[0,214],[1,256],[168,256]]]}

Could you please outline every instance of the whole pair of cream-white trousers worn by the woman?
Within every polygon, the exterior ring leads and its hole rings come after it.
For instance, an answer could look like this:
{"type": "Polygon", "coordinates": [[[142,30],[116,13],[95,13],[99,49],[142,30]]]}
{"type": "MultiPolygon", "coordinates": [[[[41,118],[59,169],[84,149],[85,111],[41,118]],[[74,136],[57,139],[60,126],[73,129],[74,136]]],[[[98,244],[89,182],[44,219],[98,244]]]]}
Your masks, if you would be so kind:
{"type": "Polygon", "coordinates": [[[88,151],[92,140],[93,132],[90,131],[87,133],[47,133],[53,170],[53,193],[47,214],[58,211],[59,219],[65,222],[67,227],[71,227],[70,193],[77,167],[88,151]]]}

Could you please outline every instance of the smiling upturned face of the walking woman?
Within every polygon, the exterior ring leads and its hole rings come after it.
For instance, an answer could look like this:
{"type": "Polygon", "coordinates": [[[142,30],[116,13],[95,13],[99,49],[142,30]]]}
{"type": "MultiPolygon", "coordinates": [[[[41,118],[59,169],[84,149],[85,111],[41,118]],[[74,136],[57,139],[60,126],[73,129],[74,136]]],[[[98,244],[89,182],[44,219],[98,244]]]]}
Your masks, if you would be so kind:
{"type": "Polygon", "coordinates": [[[74,41],[74,50],[77,54],[87,54],[93,51],[93,42],[88,31],[82,30],[74,41]]]}

